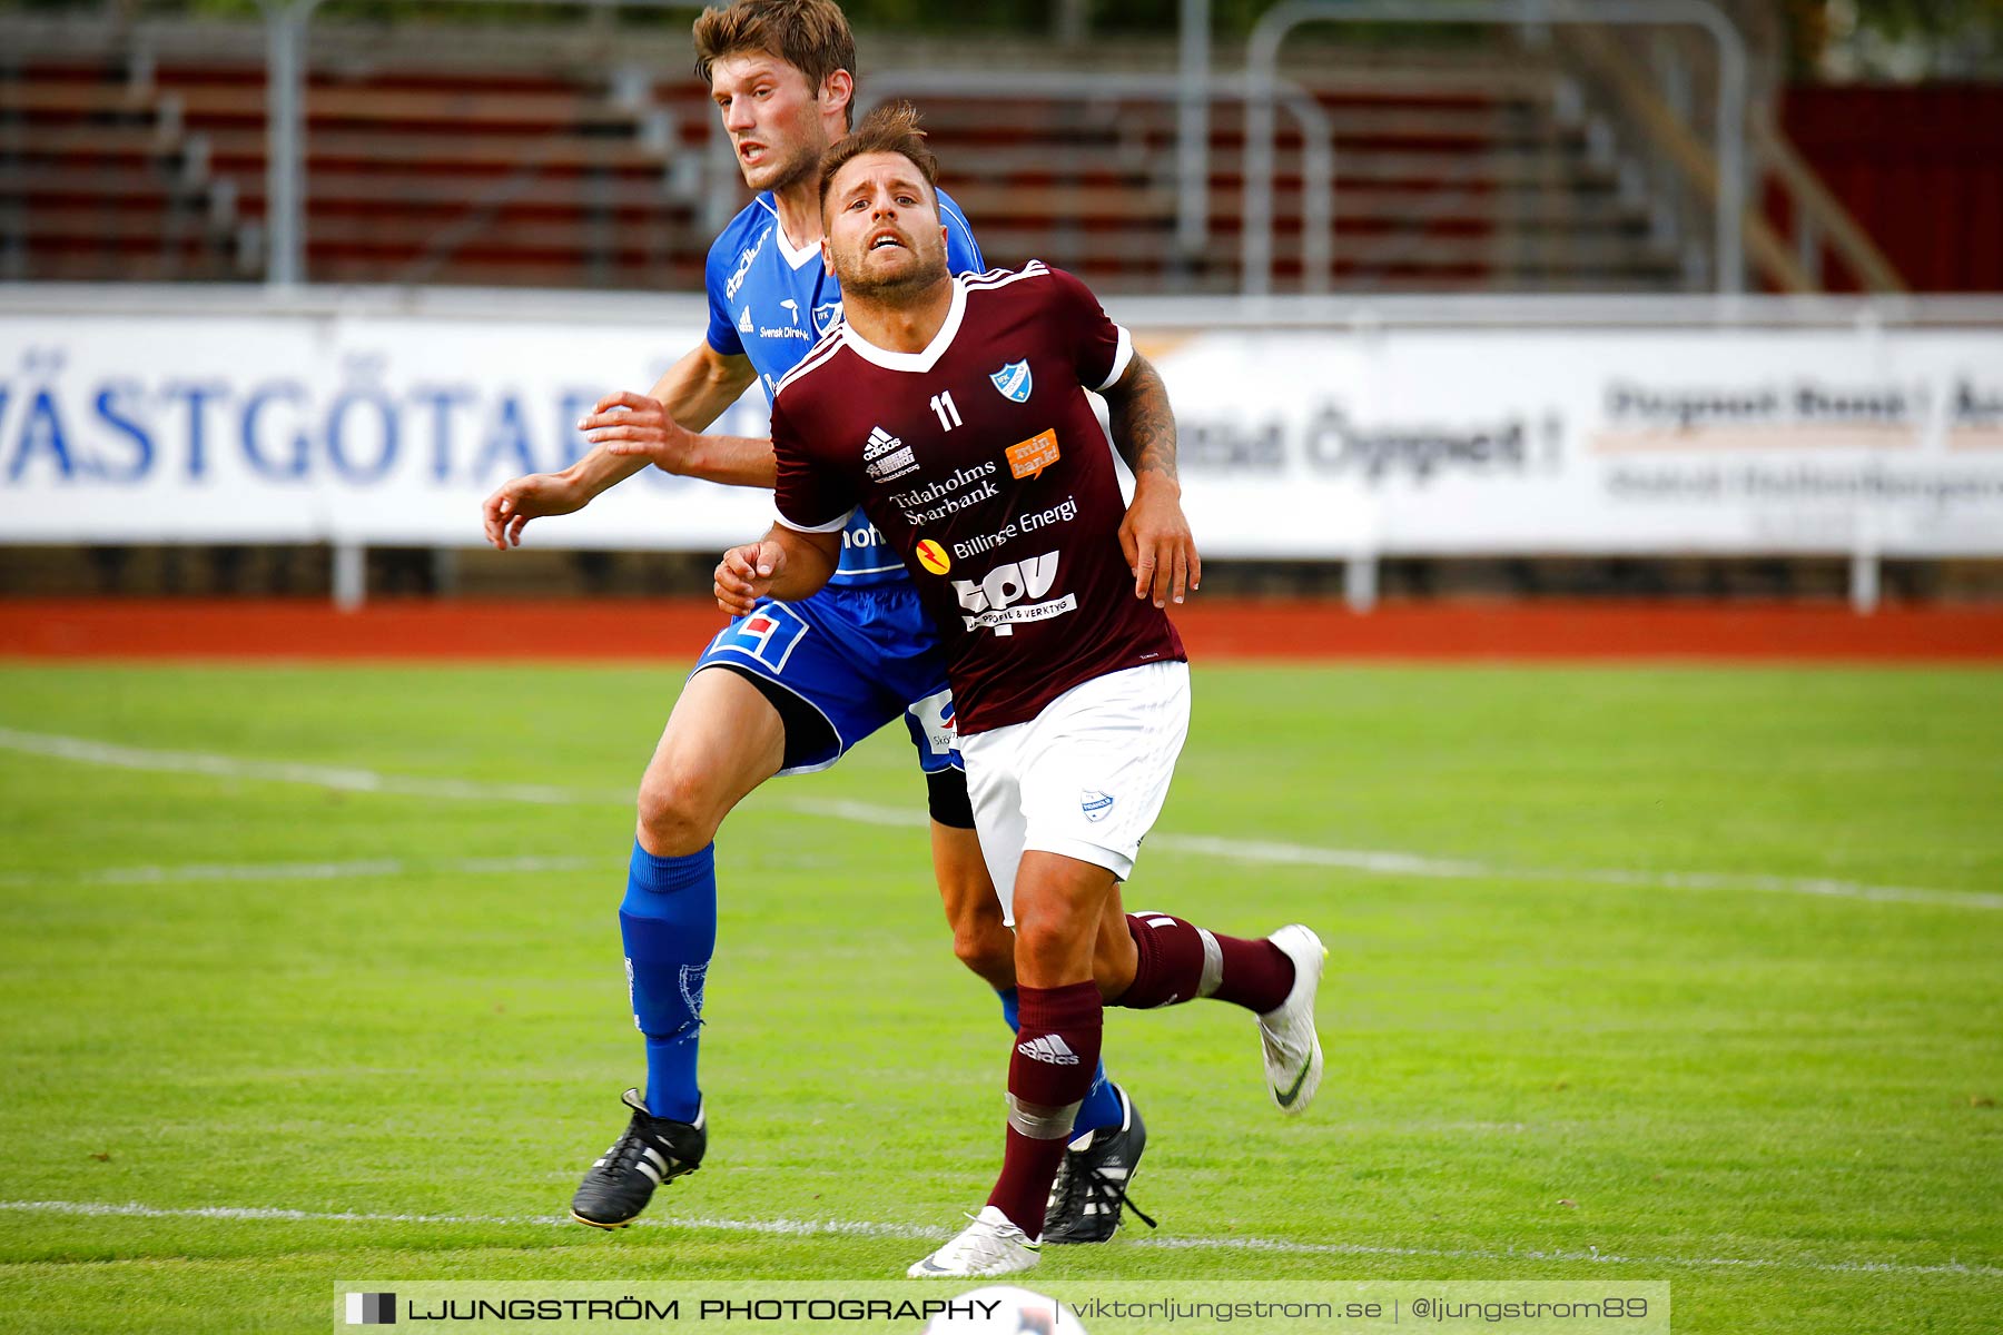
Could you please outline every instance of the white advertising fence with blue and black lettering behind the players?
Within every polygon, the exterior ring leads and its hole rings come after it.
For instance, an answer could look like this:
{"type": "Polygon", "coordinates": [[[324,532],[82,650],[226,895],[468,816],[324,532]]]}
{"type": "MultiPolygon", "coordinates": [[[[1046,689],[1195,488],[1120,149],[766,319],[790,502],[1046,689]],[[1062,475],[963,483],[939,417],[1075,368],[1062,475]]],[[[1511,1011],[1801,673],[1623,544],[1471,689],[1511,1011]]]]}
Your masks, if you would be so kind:
{"type": "MultiPolygon", "coordinates": [[[[1212,556],[2003,556],[2003,300],[1114,306],[1212,556]]],[[[465,546],[691,298],[0,288],[0,544],[465,546]]],[[[753,390],[721,424],[757,434],[753,390]]],[[[647,472],[545,546],[713,550],[759,492],[647,472]]]]}

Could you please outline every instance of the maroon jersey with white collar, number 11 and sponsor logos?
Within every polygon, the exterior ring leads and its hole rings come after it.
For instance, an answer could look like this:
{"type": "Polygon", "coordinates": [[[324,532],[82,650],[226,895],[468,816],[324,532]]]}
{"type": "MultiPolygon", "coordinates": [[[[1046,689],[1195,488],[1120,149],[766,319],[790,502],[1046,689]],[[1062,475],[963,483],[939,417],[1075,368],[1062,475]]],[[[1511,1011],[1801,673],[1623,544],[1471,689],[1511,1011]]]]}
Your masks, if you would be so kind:
{"type": "Polygon", "coordinates": [[[939,626],[965,735],[1184,656],[1168,616],[1134,596],[1126,502],[1086,398],[1130,358],[1086,284],[1032,260],[953,278],[923,352],[841,324],[779,380],[779,520],[835,532],[863,508],[939,626]]]}

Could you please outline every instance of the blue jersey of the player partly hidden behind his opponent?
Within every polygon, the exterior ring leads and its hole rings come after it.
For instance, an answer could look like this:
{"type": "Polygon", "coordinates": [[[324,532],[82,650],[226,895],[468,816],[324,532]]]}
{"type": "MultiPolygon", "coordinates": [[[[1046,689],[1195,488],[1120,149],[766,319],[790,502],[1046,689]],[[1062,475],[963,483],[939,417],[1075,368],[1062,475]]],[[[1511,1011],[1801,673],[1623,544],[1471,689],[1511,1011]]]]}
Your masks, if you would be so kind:
{"type": "MultiPolygon", "coordinates": [[[[939,190],[945,224],[945,266],[979,274],[987,264],[967,216],[939,190]]],[[[779,226],[771,190],[745,204],[709,246],[703,268],[709,290],[709,346],[725,356],[749,356],[765,398],[799,364],[821,334],[841,322],[841,284],[821,264],[819,244],[793,250],[779,226]]],[[[911,578],[861,506],[841,534],[841,564],[831,584],[887,584],[911,578]]]]}

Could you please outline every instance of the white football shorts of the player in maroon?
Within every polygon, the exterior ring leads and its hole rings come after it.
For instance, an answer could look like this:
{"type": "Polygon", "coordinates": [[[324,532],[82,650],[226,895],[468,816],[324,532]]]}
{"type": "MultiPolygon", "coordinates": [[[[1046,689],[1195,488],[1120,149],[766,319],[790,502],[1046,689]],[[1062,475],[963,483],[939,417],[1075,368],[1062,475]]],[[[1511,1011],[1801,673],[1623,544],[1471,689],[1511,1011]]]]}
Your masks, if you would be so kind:
{"type": "Polygon", "coordinates": [[[1190,664],[1146,662],[1072,687],[1028,723],[959,739],[973,829],[1010,927],[1028,849],[1128,879],[1188,735],[1190,664]]]}

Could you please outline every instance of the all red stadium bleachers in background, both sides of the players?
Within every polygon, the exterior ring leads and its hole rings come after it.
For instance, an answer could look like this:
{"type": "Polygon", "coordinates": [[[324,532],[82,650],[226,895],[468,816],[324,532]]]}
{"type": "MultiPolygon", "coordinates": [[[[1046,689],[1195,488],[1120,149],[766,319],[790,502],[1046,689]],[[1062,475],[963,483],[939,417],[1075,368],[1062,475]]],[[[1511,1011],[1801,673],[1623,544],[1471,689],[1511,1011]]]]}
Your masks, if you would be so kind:
{"type": "MultiPolygon", "coordinates": [[[[895,68],[871,88],[893,92],[895,68]]],[[[1691,274],[1606,124],[1548,56],[1318,60],[1334,134],[1332,286],[1677,290],[1691,274]]],[[[1176,240],[1172,96],[921,98],[997,262],[1108,290],[1236,290],[1246,114],[1210,114],[1210,244],[1176,240]]],[[[0,70],[0,210],[16,278],[250,278],[268,136],[254,64],[24,60],[0,70]]],[[[685,74],[453,70],[387,50],[304,92],[306,272],[322,282],[693,288],[729,176],[685,74]],[[719,184],[721,182],[721,184],[719,184]],[[709,226],[705,226],[705,220],[709,226]]],[[[1274,278],[1308,286],[1300,130],[1282,120],[1274,278]]]]}

